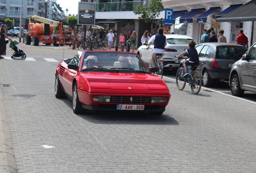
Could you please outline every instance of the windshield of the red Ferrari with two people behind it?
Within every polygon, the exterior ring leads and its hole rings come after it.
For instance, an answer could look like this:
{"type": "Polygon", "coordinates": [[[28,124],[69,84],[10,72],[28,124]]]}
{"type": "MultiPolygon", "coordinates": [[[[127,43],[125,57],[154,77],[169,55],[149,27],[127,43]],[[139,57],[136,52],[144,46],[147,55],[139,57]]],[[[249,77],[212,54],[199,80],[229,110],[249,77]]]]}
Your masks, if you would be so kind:
{"type": "Polygon", "coordinates": [[[83,69],[84,71],[110,69],[113,72],[149,72],[147,66],[136,54],[120,52],[86,52],[81,70],[83,69]]]}

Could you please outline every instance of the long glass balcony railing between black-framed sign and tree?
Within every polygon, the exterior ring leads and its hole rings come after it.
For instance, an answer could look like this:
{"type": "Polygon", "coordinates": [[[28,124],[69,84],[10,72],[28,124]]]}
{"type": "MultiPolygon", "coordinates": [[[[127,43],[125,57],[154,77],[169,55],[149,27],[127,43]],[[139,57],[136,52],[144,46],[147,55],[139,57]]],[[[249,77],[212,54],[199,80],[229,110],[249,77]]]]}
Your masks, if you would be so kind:
{"type": "Polygon", "coordinates": [[[124,12],[134,11],[137,9],[137,4],[144,6],[146,9],[149,7],[151,1],[133,1],[133,2],[107,2],[96,3],[96,12],[124,12]]]}

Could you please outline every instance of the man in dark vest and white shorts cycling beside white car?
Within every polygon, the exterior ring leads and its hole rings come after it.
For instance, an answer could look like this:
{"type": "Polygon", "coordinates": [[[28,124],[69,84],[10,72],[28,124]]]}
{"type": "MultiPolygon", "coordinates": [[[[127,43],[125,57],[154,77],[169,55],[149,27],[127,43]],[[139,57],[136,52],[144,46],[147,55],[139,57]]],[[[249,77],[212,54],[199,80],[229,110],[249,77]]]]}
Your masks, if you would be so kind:
{"type": "Polygon", "coordinates": [[[149,49],[149,46],[154,42],[154,49],[152,51],[151,55],[151,64],[154,67],[155,66],[155,60],[157,58],[157,54],[162,54],[159,56],[159,58],[163,57],[163,54],[165,53],[165,46],[166,46],[166,37],[163,35],[163,28],[158,29],[158,34],[153,35],[151,37],[151,42],[149,43],[147,50],[149,49]]]}

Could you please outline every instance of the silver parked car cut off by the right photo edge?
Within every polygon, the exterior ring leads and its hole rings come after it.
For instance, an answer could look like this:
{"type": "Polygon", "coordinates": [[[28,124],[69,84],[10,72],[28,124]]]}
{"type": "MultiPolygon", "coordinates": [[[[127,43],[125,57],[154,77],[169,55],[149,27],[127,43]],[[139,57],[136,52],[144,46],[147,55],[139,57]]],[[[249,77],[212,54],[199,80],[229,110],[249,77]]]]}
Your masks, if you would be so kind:
{"type": "Polygon", "coordinates": [[[233,96],[242,96],[244,91],[256,93],[256,43],[233,64],[229,86],[233,96]]]}

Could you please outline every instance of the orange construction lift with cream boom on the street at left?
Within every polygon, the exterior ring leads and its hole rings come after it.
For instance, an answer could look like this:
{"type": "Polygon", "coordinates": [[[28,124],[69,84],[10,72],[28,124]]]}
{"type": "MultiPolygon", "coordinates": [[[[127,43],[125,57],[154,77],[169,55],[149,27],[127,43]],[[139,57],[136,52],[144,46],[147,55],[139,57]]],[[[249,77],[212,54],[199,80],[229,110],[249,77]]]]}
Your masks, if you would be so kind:
{"type": "Polygon", "coordinates": [[[75,38],[77,34],[73,33],[72,28],[64,28],[62,22],[56,22],[39,16],[29,16],[28,32],[29,35],[25,39],[26,44],[30,45],[32,42],[34,46],[38,46],[39,42],[46,45],[53,43],[54,46],[72,45],[73,40],[77,40],[75,38]],[[56,26],[56,31],[53,30],[53,26],[56,26]]]}

